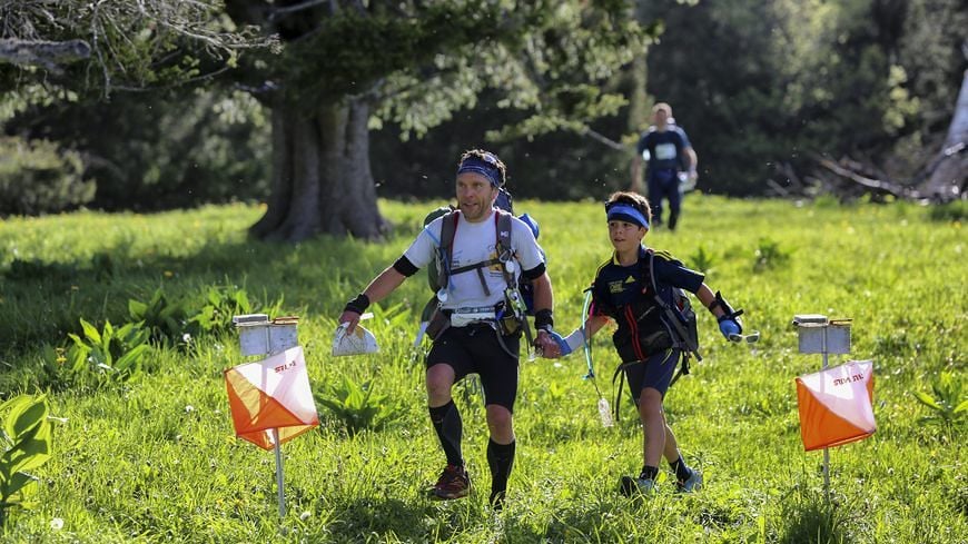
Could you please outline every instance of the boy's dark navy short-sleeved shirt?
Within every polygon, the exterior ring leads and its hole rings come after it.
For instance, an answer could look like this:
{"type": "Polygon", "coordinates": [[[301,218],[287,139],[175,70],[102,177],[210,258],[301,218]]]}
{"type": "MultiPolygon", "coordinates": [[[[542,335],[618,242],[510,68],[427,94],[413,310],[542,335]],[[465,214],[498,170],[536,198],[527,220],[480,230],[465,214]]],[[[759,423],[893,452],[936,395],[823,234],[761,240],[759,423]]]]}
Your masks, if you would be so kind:
{"type": "Polygon", "coordinates": [[[599,267],[592,284],[592,314],[615,319],[619,329],[612,342],[624,363],[644,360],[673,346],[672,329],[653,297],[652,275],[659,296],[670,305],[674,287],[695,294],[705,279],[665,251],[655,251],[654,270],[649,269],[649,260],[642,246],[639,261],[631,266],[622,266],[613,255],[599,267]]]}

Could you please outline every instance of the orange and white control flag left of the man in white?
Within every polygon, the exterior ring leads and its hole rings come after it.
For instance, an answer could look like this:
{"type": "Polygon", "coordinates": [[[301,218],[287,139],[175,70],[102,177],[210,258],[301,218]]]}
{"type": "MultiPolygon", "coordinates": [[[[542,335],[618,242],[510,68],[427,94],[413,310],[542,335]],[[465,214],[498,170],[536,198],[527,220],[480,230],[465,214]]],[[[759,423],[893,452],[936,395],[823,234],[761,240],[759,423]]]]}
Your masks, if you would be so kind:
{"type": "Polygon", "coordinates": [[[236,436],[261,448],[274,428],[285,444],[319,424],[302,346],[226,369],[225,385],[236,436]]]}

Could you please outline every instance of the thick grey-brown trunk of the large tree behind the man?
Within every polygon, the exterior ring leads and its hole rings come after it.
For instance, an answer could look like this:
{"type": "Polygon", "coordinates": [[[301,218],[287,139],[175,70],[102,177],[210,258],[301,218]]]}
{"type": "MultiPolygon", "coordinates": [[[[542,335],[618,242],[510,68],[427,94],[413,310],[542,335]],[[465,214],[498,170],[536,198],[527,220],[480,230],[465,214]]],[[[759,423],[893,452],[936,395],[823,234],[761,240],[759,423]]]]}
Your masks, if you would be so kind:
{"type": "Polygon", "coordinates": [[[376,239],[387,224],[369,169],[369,105],[364,99],[273,108],[273,192],[250,233],[299,241],[317,234],[376,239]]]}

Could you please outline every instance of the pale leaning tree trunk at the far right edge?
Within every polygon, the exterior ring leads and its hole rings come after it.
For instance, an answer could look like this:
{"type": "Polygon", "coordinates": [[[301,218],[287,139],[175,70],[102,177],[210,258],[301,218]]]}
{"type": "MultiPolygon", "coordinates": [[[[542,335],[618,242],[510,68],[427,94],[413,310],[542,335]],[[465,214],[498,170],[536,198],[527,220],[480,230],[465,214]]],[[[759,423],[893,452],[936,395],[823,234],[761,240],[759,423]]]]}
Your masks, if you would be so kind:
{"type": "Polygon", "coordinates": [[[921,192],[939,200],[961,197],[968,184],[968,70],[961,80],[961,91],[941,154],[934,165],[921,192]]]}

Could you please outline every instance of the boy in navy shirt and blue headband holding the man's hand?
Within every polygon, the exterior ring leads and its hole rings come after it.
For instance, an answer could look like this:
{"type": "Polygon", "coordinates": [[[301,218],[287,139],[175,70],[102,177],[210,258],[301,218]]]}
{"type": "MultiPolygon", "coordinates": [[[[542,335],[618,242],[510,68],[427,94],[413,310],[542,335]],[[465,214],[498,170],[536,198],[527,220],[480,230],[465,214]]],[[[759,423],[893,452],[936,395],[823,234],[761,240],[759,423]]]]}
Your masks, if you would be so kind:
{"type": "Polygon", "coordinates": [[[719,293],[713,293],[703,283],[702,274],[685,268],[669,254],[656,251],[654,259],[650,259],[652,249],[642,245],[652,219],[644,197],[635,192],[615,192],[605,204],[605,212],[609,238],[615,250],[595,275],[587,324],[565,338],[553,333],[556,344],[549,343],[544,356],[554,358],[574,352],[585,340],[585,330],[594,335],[610,318],[614,319],[619,327],[612,342],[622,358],[620,368],[629,379],[645,438],[642,471],[638,478],[623,476],[623,492],[631,493],[636,488],[643,494],[655,492],[662,456],[675,472],[678,491],[692,492],[702,486],[702,474],[682,459],[675,435],[662,409],[662,399],[685,346],[654,298],[653,277],[659,296],[666,304],[671,304],[673,288],[694,294],[717,316],[720,332],[727,339],[742,332],[740,311],[734,311],[719,293]]]}

